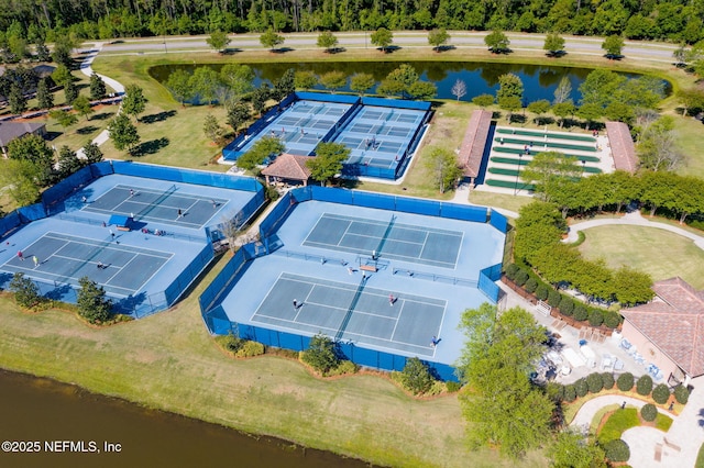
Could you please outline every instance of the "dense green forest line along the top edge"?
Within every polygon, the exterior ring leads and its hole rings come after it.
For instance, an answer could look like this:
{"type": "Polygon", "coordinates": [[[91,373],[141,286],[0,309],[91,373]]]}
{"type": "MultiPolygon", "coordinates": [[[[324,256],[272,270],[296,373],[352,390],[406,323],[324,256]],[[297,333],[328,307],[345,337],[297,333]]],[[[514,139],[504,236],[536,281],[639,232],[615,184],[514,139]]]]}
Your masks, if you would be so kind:
{"type": "Polygon", "coordinates": [[[684,0],[582,2],[547,0],[188,2],[69,0],[0,2],[0,48],[73,34],[78,38],[273,31],[502,30],[624,35],[689,44],[704,38],[704,3],[684,0]]]}

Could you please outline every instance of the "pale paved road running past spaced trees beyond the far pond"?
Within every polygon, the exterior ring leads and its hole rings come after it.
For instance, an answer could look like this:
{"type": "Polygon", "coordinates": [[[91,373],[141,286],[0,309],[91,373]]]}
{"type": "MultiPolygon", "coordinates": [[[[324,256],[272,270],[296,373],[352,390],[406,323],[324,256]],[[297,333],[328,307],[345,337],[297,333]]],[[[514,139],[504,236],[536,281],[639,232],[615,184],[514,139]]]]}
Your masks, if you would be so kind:
{"type": "MultiPolygon", "coordinates": [[[[465,32],[451,31],[450,45],[455,47],[470,47],[485,49],[484,36],[486,32],[465,32]]],[[[508,33],[510,46],[515,51],[537,49],[541,51],[544,42],[542,34],[518,34],[508,33]]],[[[373,48],[370,34],[364,32],[356,33],[338,33],[338,46],[344,48],[373,48]]],[[[289,48],[312,48],[319,49],[317,46],[317,34],[311,33],[290,33],[284,34],[286,38],[283,47],[289,48]]],[[[584,37],[584,36],[563,36],[565,40],[565,51],[568,54],[603,56],[602,37],[584,37]]],[[[208,36],[188,36],[188,37],[166,37],[165,40],[147,38],[147,40],[124,40],[113,43],[106,43],[103,53],[106,54],[163,54],[179,53],[184,51],[206,49],[211,51],[206,43],[208,36]]],[[[231,43],[229,48],[262,48],[258,34],[231,34],[231,43]]],[[[429,47],[428,33],[422,31],[396,32],[394,34],[394,45],[400,47],[429,47]]],[[[639,60],[672,63],[672,53],[676,49],[675,45],[654,42],[636,42],[627,41],[623,53],[625,59],[637,58],[639,60]]]]}

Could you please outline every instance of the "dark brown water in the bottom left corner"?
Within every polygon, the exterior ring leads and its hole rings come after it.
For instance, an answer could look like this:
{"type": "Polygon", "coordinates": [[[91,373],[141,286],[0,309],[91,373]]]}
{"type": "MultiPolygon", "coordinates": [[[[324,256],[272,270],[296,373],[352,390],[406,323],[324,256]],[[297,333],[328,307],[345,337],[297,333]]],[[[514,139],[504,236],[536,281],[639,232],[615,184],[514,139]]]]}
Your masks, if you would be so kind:
{"type": "Polygon", "coordinates": [[[3,370],[0,415],[1,467],[370,466],[3,370]],[[8,453],[8,441],[24,453],[8,453]]]}

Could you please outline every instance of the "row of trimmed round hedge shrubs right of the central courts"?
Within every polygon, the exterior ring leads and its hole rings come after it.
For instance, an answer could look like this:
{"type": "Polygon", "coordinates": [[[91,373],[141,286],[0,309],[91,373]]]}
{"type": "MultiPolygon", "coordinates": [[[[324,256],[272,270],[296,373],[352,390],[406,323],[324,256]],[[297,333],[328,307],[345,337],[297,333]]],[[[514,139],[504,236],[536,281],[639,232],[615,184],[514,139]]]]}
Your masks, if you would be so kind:
{"type": "Polygon", "coordinates": [[[563,294],[542,281],[531,269],[510,264],[505,270],[506,278],[522,287],[527,292],[535,293],[536,298],[548,302],[553,308],[560,310],[565,316],[572,316],[578,322],[588,322],[591,326],[606,325],[616,328],[620,322],[620,314],[600,308],[593,308],[582,301],[563,294]]]}

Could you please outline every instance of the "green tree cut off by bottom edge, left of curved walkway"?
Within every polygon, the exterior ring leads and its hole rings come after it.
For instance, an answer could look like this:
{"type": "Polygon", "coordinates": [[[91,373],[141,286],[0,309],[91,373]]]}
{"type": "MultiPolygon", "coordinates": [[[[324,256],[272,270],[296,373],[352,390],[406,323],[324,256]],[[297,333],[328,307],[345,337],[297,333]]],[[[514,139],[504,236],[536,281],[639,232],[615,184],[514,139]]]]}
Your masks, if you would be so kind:
{"type": "Polygon", "coordinates": [[[548,458],[554,468],[596,468],[604,465],[604,450],[573,428],[558,433],[548,447],[548,458]]]}

